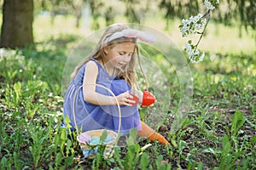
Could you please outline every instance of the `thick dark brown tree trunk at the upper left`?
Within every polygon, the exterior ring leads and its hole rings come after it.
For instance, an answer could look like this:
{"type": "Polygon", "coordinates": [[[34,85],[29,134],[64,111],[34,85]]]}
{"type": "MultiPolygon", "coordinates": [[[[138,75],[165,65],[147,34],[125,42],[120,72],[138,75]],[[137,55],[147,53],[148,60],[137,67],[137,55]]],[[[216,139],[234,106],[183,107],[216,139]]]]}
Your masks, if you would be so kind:
{"type": "Polygon", "coordinates": [[[4,0],[0,46],[23,48],[33,42],[33,0],[4,0]]]}

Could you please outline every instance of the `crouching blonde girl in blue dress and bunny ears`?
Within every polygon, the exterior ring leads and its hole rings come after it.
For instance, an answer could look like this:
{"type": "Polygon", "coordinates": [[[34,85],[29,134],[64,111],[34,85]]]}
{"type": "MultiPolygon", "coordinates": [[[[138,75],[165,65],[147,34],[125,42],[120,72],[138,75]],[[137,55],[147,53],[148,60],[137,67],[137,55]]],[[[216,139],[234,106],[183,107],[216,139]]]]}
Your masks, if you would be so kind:
{"type": "MultiPolygon", "coordinates": [[[[100,128],[117,132],[119,103],[120,133],[128,134],[131,128],[136,128],[139,136],[169,145],[163,136],[141,122],[137,103],[131,95],[136,79],[135,56],[139,55],[137,39],[154,42],[149,34],[123,24],[108,27],[92,54],[73,71],[65,95],[64,117],[68,116],[82,132],[100,128]],[[110,89],[116,98],[96,84],[110,89]]],[[[137,91],[136,95],[143,102],[143,93],[137,91]]]]}

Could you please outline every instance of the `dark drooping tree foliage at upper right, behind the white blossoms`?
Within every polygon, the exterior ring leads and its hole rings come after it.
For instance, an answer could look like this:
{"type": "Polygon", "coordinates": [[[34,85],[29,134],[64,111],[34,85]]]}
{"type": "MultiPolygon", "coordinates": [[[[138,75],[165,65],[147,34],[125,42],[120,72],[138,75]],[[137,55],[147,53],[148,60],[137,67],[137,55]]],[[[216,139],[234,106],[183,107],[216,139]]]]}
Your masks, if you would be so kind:
{"type": "MultiPolygon", "coordinates": [[[[216,0],[209,0],[210,2],[216,0]]],[[[189,18],[189,16],[197,14],[198,11],[204,13],[202,8],[202,1],[190,0],[161,0],[159,8],[165,10],[166,25],[168,26],[169,20],[173,18],[189,18]]],[[[222,0],[214,14],[212,20],[223,23],[225,26],[239,25],[239,35],[241,37],[241,30],[244,28],[255,30],[256,22],[256,4],[253,0],[222,0]]]]}

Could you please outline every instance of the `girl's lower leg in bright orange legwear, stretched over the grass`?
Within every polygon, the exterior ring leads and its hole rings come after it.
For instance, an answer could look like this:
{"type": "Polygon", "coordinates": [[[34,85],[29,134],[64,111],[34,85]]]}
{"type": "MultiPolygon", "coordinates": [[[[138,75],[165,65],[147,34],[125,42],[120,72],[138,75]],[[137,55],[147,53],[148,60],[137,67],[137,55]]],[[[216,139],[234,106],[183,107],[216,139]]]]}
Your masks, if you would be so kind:
{"type": "Polygon", "coordinates": [[[138,135],[145,136],[153,142],[155,140],[158,140],[160,144],[170,145],[170,143],[165,139],[165,137],[160,135],[160,133],[155,132],[152,128],[148,127],[148,125],[146,125],[144,122],[142,122],[142,130],[138,131],[138,135]]]}

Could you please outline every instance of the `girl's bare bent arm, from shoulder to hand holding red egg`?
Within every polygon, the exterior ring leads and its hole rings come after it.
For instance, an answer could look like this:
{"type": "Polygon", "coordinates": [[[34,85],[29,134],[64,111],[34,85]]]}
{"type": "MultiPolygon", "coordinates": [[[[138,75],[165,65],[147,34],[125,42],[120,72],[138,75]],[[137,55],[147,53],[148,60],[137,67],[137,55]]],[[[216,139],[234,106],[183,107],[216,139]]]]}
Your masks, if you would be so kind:
{"type": "Polygon", "coordinates": [[[84,101],[93,105],[117,105],[116,99],[119,105],[132,105],[135,101],[132,100],[131,94],[125,92],[119,94],[114,99],[113,96],[99,94],[96,92],[96,77],[98,75],[98,67],[95,62],[88,61],[84,71],[84,83],[83,83],[83,94],[84,101]],[[93,84],[93,85],[92,85],[93,84]],[[130,98],[130,99],[129,99],[130,98]]]}

